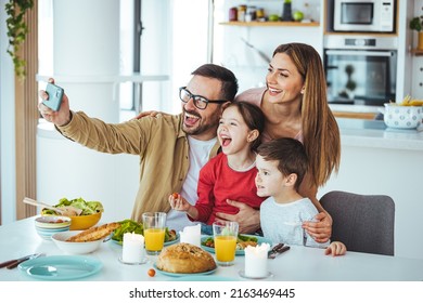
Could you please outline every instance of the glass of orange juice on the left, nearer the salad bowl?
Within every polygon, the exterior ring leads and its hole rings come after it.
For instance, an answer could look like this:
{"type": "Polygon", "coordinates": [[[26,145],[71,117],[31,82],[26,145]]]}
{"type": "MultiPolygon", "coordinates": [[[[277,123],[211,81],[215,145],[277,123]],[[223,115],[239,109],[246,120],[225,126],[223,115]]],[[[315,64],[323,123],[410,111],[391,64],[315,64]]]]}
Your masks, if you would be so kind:
{"type": "Polygon", "coordinates": [[[149,255],[159,254],[165,243],[165,212],[144,212],[142,214],[144,226],[145,252],[149,255]]]}

